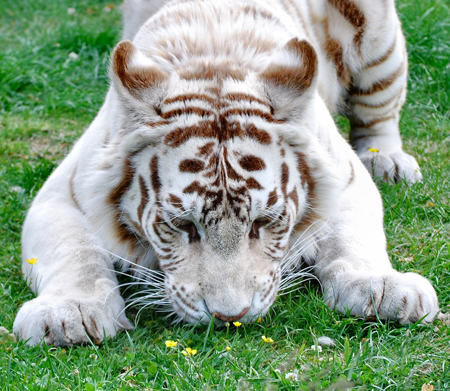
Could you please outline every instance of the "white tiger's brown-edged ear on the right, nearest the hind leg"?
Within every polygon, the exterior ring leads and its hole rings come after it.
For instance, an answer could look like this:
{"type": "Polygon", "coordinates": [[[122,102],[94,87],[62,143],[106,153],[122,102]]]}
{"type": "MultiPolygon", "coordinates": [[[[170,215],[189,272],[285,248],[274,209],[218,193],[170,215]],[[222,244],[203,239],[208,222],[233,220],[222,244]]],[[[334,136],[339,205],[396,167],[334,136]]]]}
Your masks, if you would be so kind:
{"type": "Polygon", "coordinates": [[[276,62],[260,74],[276,115],[287,115],[309,97],[317,70],[317,54],[310,43],[293,38],[284,45],[276,62]]]}

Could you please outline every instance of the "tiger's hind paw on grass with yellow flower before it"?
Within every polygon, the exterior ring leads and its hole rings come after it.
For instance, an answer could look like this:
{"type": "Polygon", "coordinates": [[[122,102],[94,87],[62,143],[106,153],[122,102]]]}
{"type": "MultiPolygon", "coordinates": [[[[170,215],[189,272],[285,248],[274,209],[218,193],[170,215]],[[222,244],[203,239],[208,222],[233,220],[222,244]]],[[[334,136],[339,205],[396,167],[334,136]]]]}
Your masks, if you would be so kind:
{"type": "Polygon", "coordinates": [[[416,183],[422,180],[416,159],[403,151],[387,154],[370,148],[358,153],[358,157],[374,179],[381,178],[394,183],[416,183]]]}

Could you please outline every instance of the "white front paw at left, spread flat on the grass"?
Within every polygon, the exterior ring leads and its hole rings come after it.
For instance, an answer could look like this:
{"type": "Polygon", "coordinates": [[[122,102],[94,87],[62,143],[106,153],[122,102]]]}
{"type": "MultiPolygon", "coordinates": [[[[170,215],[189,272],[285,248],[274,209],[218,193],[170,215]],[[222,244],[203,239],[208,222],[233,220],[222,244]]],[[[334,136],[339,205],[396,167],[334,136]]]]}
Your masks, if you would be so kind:
{"type": "Polygon", "coordinates": [[[104,336],[114,337],[121,329],[133,328],[122,303],[107,307],[104,300],[39,296],[20,308],[13,330],[31,346],[42,340],[54,346],[89,340],[99,344],[104,336]]]}

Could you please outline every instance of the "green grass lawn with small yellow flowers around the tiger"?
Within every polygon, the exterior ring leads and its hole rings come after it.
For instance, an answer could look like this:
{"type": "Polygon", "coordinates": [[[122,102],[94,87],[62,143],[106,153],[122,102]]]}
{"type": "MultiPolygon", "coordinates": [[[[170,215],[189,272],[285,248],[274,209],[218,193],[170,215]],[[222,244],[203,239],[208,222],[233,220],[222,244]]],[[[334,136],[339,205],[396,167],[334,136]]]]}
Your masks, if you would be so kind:
{"type": "MultiPolygon", "coordinates": [[[[20,227],[34,194],[89,124],[107,89],[120,36],[118,4],[3,0],[0,13],[0,326],[12,329],[33,295],[20,272],[20,227]],[[76,12],[69,15],[67,9],[76,12]],[[73,59],[69,54],[78,55],[73,59]]],[[[408,41],[401,125],[424,182],[383,185],[394,266],[428,277],[450,306],[450,10],[445,0],[399,0],[408,41]]],[[[75,56],[74,56],[75,57],[75,56]]],[[[136,313],[130,312],[132,318],[136,313]]],[[[280,297],[261,322],[215,329],[170,325],[148,311],[100,346],[29,348],[0,338],[0,389],[450,389],[450,329],[364,322],[329,310],[317,286],[280,297]],[[264,343],[261,335],[272,337],[264,343]],[[311,349],[320,336],[334,347],[311,349]],[[179,340],[167,348],[166,339],[179,340]],[[186,347],[197,349],[185,357],[186,347]],[[230,351],[226,350],[230,347],[230,351]]]]}

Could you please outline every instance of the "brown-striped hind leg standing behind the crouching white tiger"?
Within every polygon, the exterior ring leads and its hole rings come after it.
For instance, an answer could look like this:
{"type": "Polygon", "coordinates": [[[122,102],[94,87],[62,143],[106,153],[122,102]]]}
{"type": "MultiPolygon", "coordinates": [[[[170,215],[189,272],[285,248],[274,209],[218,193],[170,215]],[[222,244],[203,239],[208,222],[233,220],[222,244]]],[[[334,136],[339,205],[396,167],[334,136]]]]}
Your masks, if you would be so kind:
{"type": "Polygon", "coordinates": [[[365,21],[361,69],[349,90],[350,142],[373,177],[415,183],[422,179],[419,165],[402,150],[398,127],[408,72],[404,37],[394,2],[386,2],[385,13],[374,6],[377,16],[365,21]]]}

